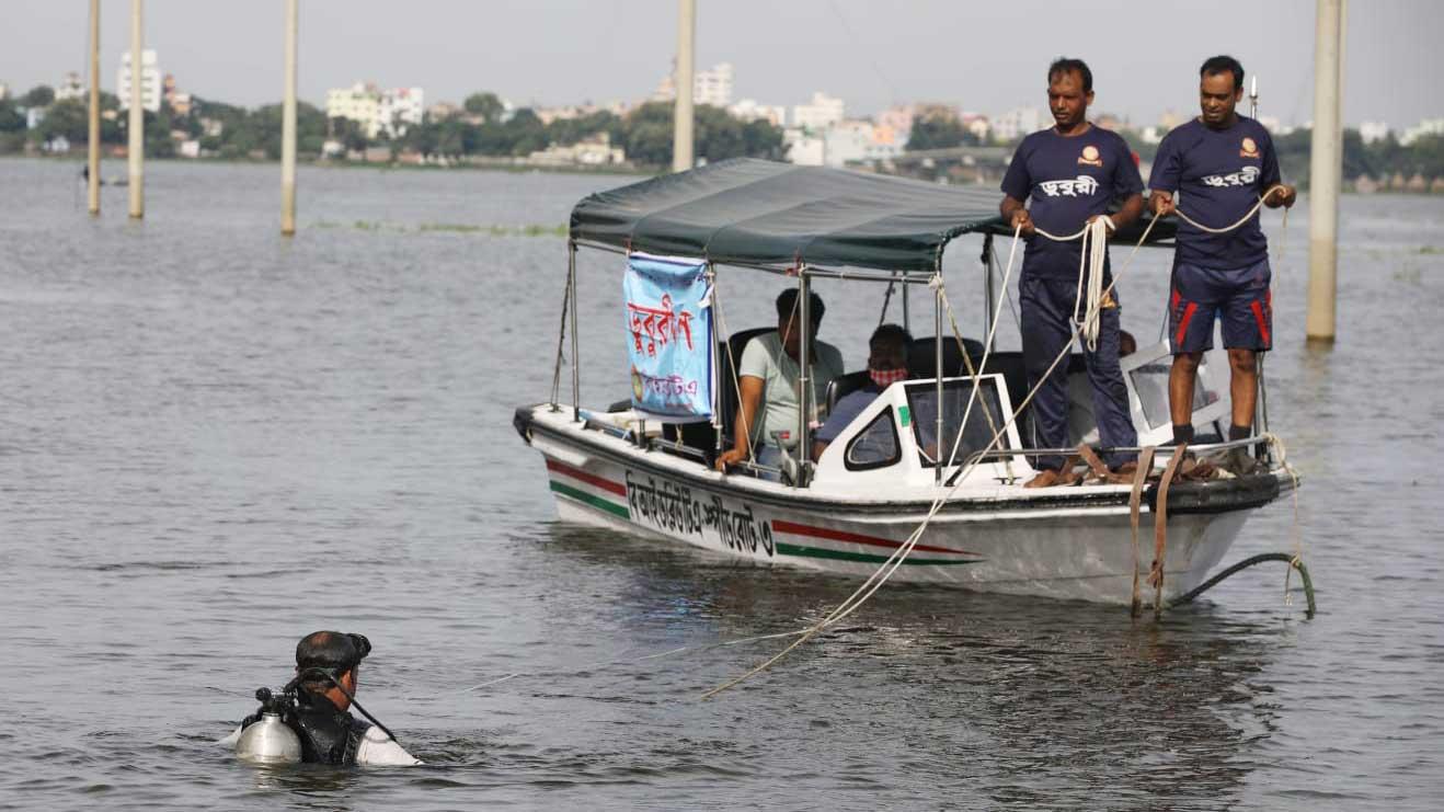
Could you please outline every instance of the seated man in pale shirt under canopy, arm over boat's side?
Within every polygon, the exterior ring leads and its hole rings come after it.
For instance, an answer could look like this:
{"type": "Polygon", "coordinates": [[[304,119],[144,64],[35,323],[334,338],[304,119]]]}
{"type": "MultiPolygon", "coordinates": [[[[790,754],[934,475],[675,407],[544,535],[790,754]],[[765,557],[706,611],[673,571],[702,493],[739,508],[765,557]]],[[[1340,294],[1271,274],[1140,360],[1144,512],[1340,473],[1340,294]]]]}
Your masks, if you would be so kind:
{"type": "MultiPolygon", "coordinates": [[[[822,296],[816,293],[810,293],[807,301],[813,337],[809,360],[812,413],[807,418],[809,423],[816,423],[827,383],[842,374],[842,353],[832,344],[816,340],[825,306],[822,296]]],[[[718,457],[718,471],[748,459],[752,457],[752,448],[757,448],[758,464],[780,467],[783,449],[791,451],[797,446],[800,413],[797,381],[801,377],[797,364],[801,351],[801,332],[796,329],[797,311],[797,289],[783,290],[777,296],[777,332],[758,335],[742,350],[742,360],[738,363],[738,410],[732,448],[718,457]],[[761,420],[757,419],[758,415],[761,420]]],[[[775,475],[765,478],[777,480],[775,475]]]]}

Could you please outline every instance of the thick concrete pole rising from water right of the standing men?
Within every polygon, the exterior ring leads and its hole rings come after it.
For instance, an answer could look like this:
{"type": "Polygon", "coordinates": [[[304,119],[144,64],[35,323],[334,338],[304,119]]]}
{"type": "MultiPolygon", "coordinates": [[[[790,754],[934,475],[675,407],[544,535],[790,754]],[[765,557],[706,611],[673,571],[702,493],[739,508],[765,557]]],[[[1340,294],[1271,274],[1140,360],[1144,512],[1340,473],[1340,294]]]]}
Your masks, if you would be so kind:
{"type": "Polygon", "coordinates": [[[1334,340],[1339,276],[1339,191],[1343,137],[1339,131],[1343,0],[1317,0],[1314,23],[1314,133],[1308,160],[1310,341],[1334,340]]]}

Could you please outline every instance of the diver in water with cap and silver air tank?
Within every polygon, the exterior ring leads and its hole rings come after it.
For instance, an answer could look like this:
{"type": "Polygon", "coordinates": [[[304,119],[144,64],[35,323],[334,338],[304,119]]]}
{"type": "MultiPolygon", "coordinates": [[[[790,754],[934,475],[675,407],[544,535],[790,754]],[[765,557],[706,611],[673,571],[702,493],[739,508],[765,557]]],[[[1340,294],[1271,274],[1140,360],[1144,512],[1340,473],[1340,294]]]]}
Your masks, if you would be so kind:
{"type": "Polygon", "coordinates": [[[313,631],[305,636],[296,644],[296,679],[279,698],[260,689],[261,709],[247,717],[221,744],[234,746],[238,756],[253,761],[420,764],[386,725],[355,702],[361,660],[368,653],[371,642],[361,634],[313,631]],[[375,724],[352,717],[352,705],[375,724]]]}

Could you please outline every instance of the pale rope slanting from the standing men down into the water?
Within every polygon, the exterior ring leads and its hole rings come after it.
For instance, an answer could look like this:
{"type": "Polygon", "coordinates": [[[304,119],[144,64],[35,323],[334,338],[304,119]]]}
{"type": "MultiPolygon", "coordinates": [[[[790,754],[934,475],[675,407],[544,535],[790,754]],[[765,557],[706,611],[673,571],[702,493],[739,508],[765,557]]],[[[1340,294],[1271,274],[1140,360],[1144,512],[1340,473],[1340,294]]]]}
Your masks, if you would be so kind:
{"type": "MultiPolygon", "coordinates": [[[[1134,246],[1134,250],[1128,254],[1128,259],[1123,260],[1123,264],[1119,267],[1118,273],[1113,275],[1113,282],[1110,282],[1108,285],[1108,288],[1099,296],[1099,303],[1102,303],[1103,299],[1109,293],[1112,293],[1112,290],[1118,285],[1118,282],[1128,273],[1128,269],[1131,267],[1131,264],[1134,262],[1134,257],[1138,256],[1138,250],[1142,249],[1144,243],[1148,241],[1148,234],[1152,233],[1155,224],[1157,224],[1157,220],[1151,220],[1148,223],[1148,227],[1144,228],[1144,233],[1138,237],[1138,244],[1134,246]]],[[[1014,231],[1014,249],[1017,249],[1017,240],[1018,240],[1018,233],[1015,230],[1014,231]]],[[[1071,337],[1069,338],[1067,344],[1063,345],[1063,350],[1057,354],[1057,357],[1053,358],[1053,363],[1048,364],[1048,368],[1038,379],[1040,380],[1040,386],[1041,386],[1041,383],[1044,380],[1047,380],[1047,377],[1050,374],[1053,374],[1053,370],[1057,368],[1057,366],[1063,361],[1063,358],[1066,358],[1069,355],[1069,353],[1071,351],[1071,347],[1073,347],[1073,341],[1077,340],[1077,337],[1079,337],[1079,324],[1074,322],[1071,325],[1071,337]]],[[[973,377],[973,394],[972,396],[976,396],[976,390],[980,386],[980,383],[982,383],[980,379],[978,379],[975,376],[973,377]]],[[[957,491],[957,488],[962,487],[963,481],[966,481],[966,474],[970,472],[973,468],[976,468],[982,462],[983,455],[986,455],[988,452],[991,452],[998,445],[998,441],[1002,439],[1004,432],[1006,432],[1008,428],[1012,426],[1012,423],[1018,419],[1018,415],[1022,412],[1022,409],[1028,403],[1032,402],[1034,396],[1037,396],[1040,386],[1034,386],[1028,392],[1027,397],[1022,399],[1022,403],[1019,403],[1018,406],[1014,407],[1014,413],[1008,418],[1008,420],[1002,425],[1001,429],[998,429],[996,432],[993,432],[992,439],[988,441],[988,445],[982,449],[982,452],[973,455],[969,462],[966,462],[963,467],[960,467],[957,470],[957,472],[954,472],[949,478],[949,490],[934,498],[931,507],[927,511],[927,516],[923,517],[923,522],[918,523],[918,526],[908,535],[908,537],[907,537],[905,542],[902,542],[901,545],[898,545],[898,548],[895,550],[892,550],[892,555],[890,555],[887,558],[887,561],[884,561],[881,565],[878,565],[878,569],[875,569],[872,572],[872,575],[869,575],[868,579],[864,581],[864,584],[861,587],[858,587],[858,589],[855,589],[852,592],[852,595],[849,595],[845,601],[842,601],[838,605],[838,608],[835,608],[827,617],[825,617],[823,620],[820,620],[816,624],[813,624],[812,627],[809,627],[804,634],[801,634],[797,640],[794,640],[786,649],[783,649],[781,652],[778,652],[777,655],[774,655],[771,659],[768,659],[767,662],[764,662],[764,663],[758,665],[757,668],[748,670],[747,673],[744,673],[741,676],[736,676],[734,679],[729,679],[728,682],[723,682],[722,685],[718,685],[716,688],[705,692],[702,695],[702,699],[710,699],[712,696],[716,696],[718,694],[721,694],[721,692],[723,692],[723,691],[726,691],[729,688],[734,688],[738,683],[741,683],[741,682],[744,682],[744,681],[747,681],[747,679],[749,679],[749,678],[752,678],[752,676],[755,676],[755,675],[758,675],[758,673],[770,669],[773,665],[775,665],[777,662],[780,662],[783,657],[786,657],[794,649],[797,649],[799,646],[801,646],[807,640],[813,639],[817,633],[823,631],[829,626],[832,626],[832,624],[840,621],[842,618],[848,617],[849,614],[852,614],[853,611],[856,611],[864,602],[866,602],[868,598],[871,598],[882,587],[882,584],[885,584],[888,581],[888,578],[891,578],[892,574],[897,572],[898,566],[901,566],[902,562],[907,559],[907,556],[913,552],[913,548],[917,546],[918,539],[923,536],[923,532],[927,530],[927,526],[933,522],[933,517],[937,516],[937,513],[943,509],[943,506],[947,503],[947,500],[952,498],[952,496],[957,491]]],[[[939,407],[941,407],[941,405],[939,405],[939,407]]]]}

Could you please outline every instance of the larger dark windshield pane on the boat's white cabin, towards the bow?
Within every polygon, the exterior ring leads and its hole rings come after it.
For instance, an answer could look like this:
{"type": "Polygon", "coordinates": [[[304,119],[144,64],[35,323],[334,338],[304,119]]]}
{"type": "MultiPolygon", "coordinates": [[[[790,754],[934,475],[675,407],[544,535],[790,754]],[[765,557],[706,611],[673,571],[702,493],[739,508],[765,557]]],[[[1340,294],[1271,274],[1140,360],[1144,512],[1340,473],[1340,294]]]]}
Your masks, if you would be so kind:
{"type": "MultiPolygon", "coordinates": [[[[967,425],[963,426],[963,413],[967,410],[967,397],[972,394],[972,379],[953,379],[943,381],[943,442],[939,445],[936,441],[937,384],[930,381],[907,384],[910,415],[902,420],[902,423],[905,426],[911,422],[913,436],[917,439],[918,455],[921,457],[924,467],[931,468],[937,465],[940,448],[944,464],[947,458],[952,458],[953,464],[962,465],[970,455],[988,448],[989,442],[992,442],[993,432],[1001,429],[1008,420],[1008,416],[1002,413],[1002,406],[999,405],[996,380],[983,379],[982,384],[978,387],[978,402],[973,403],[973,410],[967,416],[967,425]],[[992,416],[991,425],[988,419],[989,416],[992,416]],[[954,455],[953,444],[957,442],[959,432],[962,432],[963,441],[957,444],[957,452],[954,455]]],[[[1009,446],[1008,435],[1005,432],[998,441],[998,448],[1009,446]]]]}

